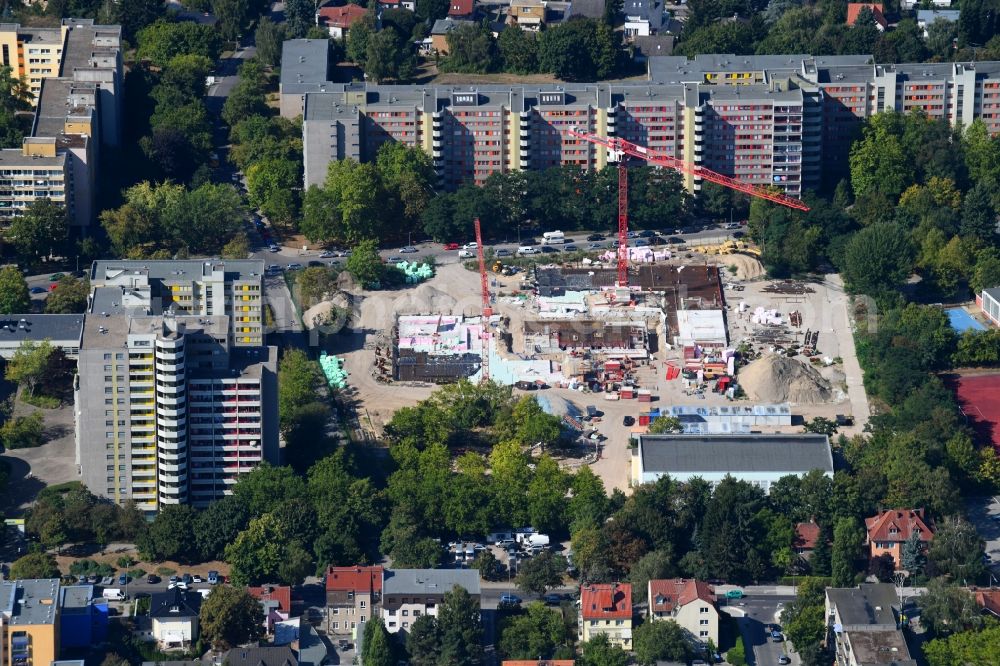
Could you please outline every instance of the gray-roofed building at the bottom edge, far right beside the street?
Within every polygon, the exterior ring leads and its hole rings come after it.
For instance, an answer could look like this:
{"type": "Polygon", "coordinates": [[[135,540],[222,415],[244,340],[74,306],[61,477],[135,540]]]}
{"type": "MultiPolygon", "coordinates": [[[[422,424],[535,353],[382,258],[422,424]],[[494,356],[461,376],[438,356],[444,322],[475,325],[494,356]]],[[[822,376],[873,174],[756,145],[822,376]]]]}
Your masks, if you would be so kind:
{"type": "Polygon", "coordinates": [[[916,666],[896,623],[899,614],[889,583],[826,588],[826,643],[837,666],[916,666]]]}

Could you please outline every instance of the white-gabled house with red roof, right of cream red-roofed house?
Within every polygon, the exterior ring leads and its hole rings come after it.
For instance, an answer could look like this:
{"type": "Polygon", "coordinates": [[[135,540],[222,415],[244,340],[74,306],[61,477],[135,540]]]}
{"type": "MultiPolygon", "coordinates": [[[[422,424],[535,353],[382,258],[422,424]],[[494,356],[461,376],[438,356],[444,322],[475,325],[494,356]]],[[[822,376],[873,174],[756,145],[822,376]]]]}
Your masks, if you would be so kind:
{"type": "Polygon", "coordinates": [[[719,645],[715,590],[704,581],[668,578],[648,583],[649,619],[672,620],[692,640],[719,645]]]}

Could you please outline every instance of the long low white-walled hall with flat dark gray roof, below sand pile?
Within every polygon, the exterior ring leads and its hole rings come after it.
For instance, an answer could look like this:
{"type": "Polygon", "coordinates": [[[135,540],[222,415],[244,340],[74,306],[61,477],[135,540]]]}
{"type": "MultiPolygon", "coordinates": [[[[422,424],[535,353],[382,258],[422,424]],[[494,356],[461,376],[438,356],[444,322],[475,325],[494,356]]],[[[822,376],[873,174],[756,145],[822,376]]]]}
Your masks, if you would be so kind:
{"type": "Polygon", "coordinates": [[[632,452],[632,483],[651,483],[664,475],[687,482],[700,477],[719,483],[727,476],[764,492],[783,476],[803,477],[821,470],[833,478],[833,456],[826,435],[639,435],[632,452]]]}

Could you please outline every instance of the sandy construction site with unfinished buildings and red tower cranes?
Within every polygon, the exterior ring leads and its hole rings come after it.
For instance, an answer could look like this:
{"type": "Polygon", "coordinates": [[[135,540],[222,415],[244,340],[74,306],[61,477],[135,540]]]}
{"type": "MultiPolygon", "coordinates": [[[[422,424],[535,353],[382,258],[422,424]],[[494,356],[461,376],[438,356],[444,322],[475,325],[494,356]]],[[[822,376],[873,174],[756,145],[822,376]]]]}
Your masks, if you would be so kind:
{"type": "Polygon", "coordinates": [[[868,404],[838,276],[767,280],[745,241],[629,247],[627,169],[619,174],[613,252],[488,267],[476,221],[476,262],[356,295],[355,337],[341,356],[374,436],[438,384],[492,380],[535,392],[588,451],[566,464],[590,464],[624,490],[629,440],[659,416],[692,434],[799,432],[816,416],[860,431],[868,404]]]}

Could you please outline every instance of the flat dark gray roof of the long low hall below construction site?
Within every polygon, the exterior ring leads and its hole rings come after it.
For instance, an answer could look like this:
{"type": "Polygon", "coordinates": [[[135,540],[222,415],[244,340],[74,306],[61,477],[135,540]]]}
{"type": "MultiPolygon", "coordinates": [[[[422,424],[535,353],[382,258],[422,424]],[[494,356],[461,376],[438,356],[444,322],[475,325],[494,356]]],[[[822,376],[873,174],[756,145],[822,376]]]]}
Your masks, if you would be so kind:
{"type": "Polygon", "coordinates": [[[640,435],[646,472],[833,473],[826,435],[640,435]]]}

